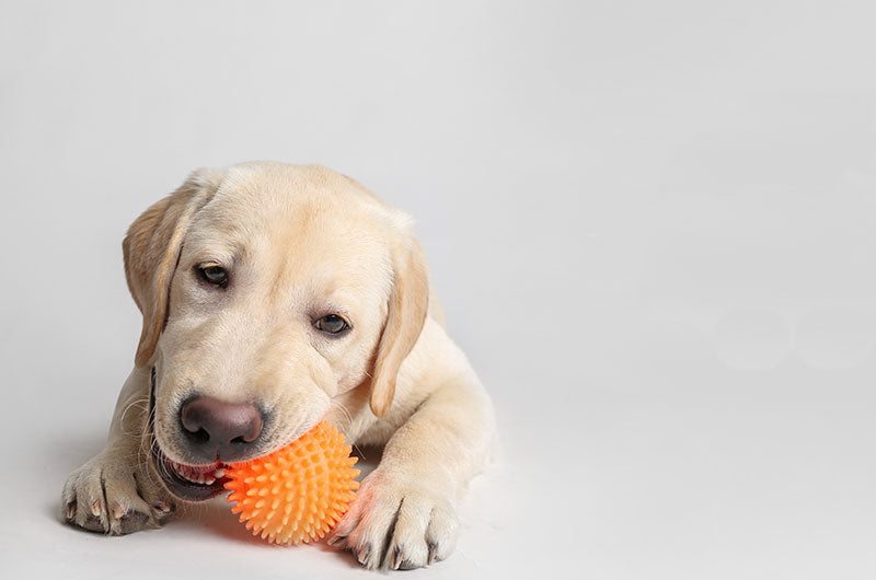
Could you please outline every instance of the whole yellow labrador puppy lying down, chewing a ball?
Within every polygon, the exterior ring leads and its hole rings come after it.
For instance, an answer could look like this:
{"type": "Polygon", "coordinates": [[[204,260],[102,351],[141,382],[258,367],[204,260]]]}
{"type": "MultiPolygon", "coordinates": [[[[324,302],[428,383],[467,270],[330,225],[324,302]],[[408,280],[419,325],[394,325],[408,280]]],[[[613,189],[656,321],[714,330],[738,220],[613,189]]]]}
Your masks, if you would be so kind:
{"type": "Polygon", "coordinates": [[[445,332],[411,219],[320,166],[197,171],[131,224],[143,326],[106,448],[64,488],[125,534],[222,492],[226,463],[321,419],[385,444],[330,543],[368,568],[446,558],[491,449],[492,404],[445,332]]]}

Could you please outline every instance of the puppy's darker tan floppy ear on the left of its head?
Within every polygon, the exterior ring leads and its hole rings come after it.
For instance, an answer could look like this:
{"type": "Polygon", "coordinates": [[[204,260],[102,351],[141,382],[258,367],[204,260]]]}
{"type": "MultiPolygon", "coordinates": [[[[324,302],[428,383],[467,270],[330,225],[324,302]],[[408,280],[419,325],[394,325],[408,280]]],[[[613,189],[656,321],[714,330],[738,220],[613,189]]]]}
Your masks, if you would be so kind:
{"type": "Polygon", "coordinates": [[[122,242],[125,278],[134,302],[143,315],[143,328],[134,363],[146,367],[155,352],[168,317],[168,294],[183,237],[192,216],[212,197],[215,185],[206,171],[197,171],[164,199],[137,218],[122,242]]]}

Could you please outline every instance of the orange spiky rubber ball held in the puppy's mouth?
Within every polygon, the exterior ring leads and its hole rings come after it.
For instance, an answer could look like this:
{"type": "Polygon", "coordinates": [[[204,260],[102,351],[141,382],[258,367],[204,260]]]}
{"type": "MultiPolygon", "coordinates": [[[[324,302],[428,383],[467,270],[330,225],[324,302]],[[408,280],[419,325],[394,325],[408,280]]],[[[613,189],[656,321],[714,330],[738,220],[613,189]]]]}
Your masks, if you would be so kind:
{"type": "Polygon", "coordinates": [[[322,540],[356,497],[359,469],[344,436],[325,421],[289,445],[226,469],[228,501],[246,530],[276,544],[322,540]]]}

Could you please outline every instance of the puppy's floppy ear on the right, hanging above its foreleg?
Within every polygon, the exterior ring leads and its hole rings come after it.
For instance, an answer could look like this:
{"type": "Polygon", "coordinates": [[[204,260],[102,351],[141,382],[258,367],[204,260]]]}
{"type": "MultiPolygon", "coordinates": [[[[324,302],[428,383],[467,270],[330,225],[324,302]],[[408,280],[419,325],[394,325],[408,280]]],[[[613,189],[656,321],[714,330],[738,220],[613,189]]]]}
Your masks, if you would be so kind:
{"type": "Polygon", "coordinates": [[[371,411],[383,417],[395,395],[395,379],[414,348],[429,310],[429,280],[423,248],[406,233],[392,247],[392,291],[371,379],[371,411]]]}

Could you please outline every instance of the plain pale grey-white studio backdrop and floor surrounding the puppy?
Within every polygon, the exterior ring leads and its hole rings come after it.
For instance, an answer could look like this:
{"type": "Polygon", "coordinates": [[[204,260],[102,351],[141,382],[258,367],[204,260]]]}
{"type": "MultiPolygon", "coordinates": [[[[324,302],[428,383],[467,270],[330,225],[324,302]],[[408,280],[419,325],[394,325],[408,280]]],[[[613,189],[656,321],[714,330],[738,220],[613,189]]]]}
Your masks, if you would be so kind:
{"type": "Polygon", "coordinates": [[[2,2],[7,578],[339,578],[219,503],[58,521],[139,336],[127,225],[319,162],[417,218],[503,457],[405,577],[876,575],[873,2],[2,2]]]}

